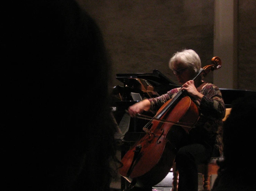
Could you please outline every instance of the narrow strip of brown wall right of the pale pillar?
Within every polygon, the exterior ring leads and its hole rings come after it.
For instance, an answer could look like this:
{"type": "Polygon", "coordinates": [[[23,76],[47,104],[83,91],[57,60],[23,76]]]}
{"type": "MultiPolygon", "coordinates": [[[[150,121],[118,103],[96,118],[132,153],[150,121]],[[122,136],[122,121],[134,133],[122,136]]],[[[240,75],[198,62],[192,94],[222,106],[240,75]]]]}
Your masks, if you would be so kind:
{"type": "Polygon", "coordinates": [[[239,0],[238,82],[239,89],[256,90],[256,3],[239,0]]]}

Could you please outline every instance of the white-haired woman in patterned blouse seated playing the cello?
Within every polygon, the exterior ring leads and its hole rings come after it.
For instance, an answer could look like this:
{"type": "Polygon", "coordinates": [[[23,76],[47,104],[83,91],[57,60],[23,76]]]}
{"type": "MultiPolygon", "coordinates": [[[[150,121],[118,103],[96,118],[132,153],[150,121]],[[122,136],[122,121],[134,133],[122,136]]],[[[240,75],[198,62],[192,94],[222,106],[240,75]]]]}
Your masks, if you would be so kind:
{"type": "MultiPolygon", "coordinates": [[[[198,106],[200,117],[193,128],[182,136],[176,153],[179,171],[179,191],[197,191],[197,165],[210,157],[222,154],[222,119],[225,105],[217,86],[199,76],[191,80],[201,69],[201,60],[194,50],[177,52],[169,61],[169,67],[191,100],[198,106]]],[[[145,99],[128,108],[132,117],[143,111],[157,111],[178,93],[180,88],[168,91],[157,98],[145,99]]]]}

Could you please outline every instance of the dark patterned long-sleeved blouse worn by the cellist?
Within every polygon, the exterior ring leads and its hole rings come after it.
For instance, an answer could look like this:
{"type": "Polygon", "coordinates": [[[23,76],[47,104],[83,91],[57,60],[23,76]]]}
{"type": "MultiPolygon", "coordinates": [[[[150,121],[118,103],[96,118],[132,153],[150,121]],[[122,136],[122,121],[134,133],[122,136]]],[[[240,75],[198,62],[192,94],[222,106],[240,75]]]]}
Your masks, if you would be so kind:
{"type": "MultiPolygon", "coordinates": [[[[155,112],[173,98],[180,88],[175,88],[168,91],[157,98],[150,98],[150,110],[155,112]]],[[[195,136],[195,142],[206,143],[213,147],[213,157],[222,154],[222,119],[225,117],[226,107],[222,99],[221,91],[217,86],[207,83],[200,91],[204,96],[201,104],[191,97],[191,100],[198,106],[200,118],[194,127],[189,131],[191,136],[195,136]],[[196,134],[196,135],[195,135],[196,134]]]]}

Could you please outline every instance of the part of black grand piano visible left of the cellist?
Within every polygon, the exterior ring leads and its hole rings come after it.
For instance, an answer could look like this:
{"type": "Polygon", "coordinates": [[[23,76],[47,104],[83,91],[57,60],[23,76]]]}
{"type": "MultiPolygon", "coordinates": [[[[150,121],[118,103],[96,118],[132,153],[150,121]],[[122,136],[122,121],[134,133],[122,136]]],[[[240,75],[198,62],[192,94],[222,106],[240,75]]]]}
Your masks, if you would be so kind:
{"type": "MultiPolygon", "coordinates": [[[[116,139],[124,140],[125,136],[125,140],[135,141],[148,121],[131,118],[125,110],[136,102],[160,96],[179,86],[158,70],[153,70],[152,73],[116,74],[116,79],[123,83],[123,86],[115,86],[112,91],[112,112],[120,129],[116,133],[116,139]]],[[[153,117],[151,112],[145,114],[153,117]]]]}

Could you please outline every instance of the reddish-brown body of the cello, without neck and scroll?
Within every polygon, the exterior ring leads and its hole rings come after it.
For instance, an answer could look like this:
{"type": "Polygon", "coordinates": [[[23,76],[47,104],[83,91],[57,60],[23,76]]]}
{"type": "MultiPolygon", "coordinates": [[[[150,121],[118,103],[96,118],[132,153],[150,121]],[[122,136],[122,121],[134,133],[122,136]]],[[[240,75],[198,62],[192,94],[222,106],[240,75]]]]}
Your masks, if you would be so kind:
{"type": "MultiPolygon", "coordinates": [[[[199,111],[186,96],[161,118],[174,122],[185,121],[193,126],[199,118],[199,111]]],[[[127,181],[133,181],[136,187],[151,187],[166,177],[173,166],[179,140],[190,129],[159,121],[152,124],[150,132],[136,142],[121,160],[123,166],[119,169],[120,174],[127,181]]]]}

